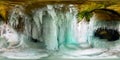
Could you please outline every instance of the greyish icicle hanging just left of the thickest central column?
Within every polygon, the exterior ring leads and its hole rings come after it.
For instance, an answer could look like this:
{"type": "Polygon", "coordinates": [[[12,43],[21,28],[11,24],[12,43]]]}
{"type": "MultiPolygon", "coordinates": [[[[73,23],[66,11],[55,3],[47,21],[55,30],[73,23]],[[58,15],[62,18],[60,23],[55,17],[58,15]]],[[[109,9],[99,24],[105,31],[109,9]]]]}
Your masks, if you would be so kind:
{"type": "Polygon", "coordinates": [[[33,22],[32,22],[32,37],[39,41],[42,40],[42,21],[43,21],[43,10],[33,11],[33,22]]]}

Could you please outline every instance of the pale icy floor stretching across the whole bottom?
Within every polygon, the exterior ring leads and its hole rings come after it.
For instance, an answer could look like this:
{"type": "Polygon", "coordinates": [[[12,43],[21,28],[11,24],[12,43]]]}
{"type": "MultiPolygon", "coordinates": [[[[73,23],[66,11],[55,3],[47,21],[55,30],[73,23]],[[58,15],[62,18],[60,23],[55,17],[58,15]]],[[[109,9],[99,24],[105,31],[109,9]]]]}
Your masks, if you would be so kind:
{"type": "Polygon", "coordinates": [[[63,60],[63,59],[120,59],[120,51],[107,49],[77,49],[46,51],[44,49],[1,49],[0,60],[63,60]]]}

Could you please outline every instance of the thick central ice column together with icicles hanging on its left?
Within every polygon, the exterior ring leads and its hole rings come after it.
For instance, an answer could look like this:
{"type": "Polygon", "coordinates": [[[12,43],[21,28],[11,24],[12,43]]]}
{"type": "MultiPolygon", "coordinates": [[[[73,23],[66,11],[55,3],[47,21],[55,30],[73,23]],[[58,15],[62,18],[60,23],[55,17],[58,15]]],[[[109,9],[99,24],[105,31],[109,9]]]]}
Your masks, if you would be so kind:
{"type": "Polygon", "coordinates": [[[37,25],[37,30],[40,31],[38,36],[45,42],[46,48],[49,50],[57,50],[57,19],[53,6],[48,5],[42,9],[38,9],[33,19],[37,25]]]}

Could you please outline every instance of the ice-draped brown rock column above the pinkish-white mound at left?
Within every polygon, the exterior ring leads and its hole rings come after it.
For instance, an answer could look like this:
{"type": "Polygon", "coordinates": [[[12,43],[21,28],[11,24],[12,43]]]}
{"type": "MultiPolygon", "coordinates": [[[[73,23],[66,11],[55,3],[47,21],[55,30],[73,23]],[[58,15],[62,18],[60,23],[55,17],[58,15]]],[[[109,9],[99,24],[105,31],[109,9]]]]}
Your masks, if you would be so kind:
{"type": "MultiPolygon", "coordinates": [[[[29,42],[31,37],[31,18],[24,13],[24,7],[16,5],[9,11],[9,18],[7,24],[16,31],[19,36],[16,40],[19,41],[17,47],[27,47],[26,41],[29,42]]],[[[13,34],[14,35],[14,34],[13,34]]]]}

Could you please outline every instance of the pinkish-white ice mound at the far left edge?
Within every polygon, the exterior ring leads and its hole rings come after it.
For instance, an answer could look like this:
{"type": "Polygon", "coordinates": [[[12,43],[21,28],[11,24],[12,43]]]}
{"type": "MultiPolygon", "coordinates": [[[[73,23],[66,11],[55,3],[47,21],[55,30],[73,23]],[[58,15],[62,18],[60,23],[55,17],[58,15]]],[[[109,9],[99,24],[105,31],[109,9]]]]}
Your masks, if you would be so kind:
{"type": "Polygon", "coordinates": [[[19,43],[18,34],[12,27],[6,24],[3,24],[1,27],[1,37],[9,44],[8,48],[12,48],[19,43]]]}

